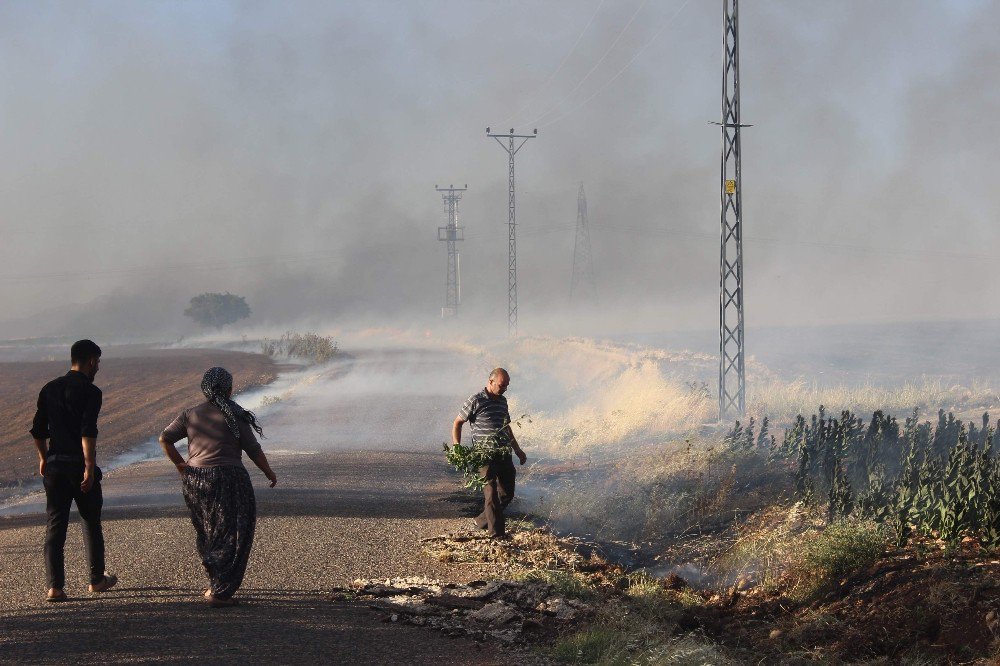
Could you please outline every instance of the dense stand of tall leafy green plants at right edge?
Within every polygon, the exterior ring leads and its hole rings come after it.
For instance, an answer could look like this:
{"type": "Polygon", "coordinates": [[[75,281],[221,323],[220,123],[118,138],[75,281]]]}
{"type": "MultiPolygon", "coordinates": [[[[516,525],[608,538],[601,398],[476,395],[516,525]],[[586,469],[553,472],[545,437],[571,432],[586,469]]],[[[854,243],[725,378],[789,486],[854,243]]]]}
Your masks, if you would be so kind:
{"type": "Polygon", "coordinates": [[[866,426],[850,411],[837,418],[820,406],[811,421],[796,419],[775,455],[797,459],[796,494],[806,504],[825,496],[831,522],[853,515],[888,525],[899,546],[915,529],[951,544],[973,536],[1000,547],[995,434],[989,414],[977,425],[941,410],[932,425],[914,410],[901,426],[876,411],[866,426]]]}

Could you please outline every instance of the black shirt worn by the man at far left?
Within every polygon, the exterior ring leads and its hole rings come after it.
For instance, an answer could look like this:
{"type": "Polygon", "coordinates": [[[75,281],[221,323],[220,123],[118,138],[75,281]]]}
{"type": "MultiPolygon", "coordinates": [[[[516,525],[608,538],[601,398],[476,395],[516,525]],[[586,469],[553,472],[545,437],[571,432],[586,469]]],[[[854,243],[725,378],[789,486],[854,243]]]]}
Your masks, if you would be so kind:
{"type": "Polygon", "coordinates": [[[50,462],[83,468],[81,439],[97,437],[97,416],[103,399],[94,380],[78,370],[70,370],[42,387],[31,436],[49,440],[50,462]]]}

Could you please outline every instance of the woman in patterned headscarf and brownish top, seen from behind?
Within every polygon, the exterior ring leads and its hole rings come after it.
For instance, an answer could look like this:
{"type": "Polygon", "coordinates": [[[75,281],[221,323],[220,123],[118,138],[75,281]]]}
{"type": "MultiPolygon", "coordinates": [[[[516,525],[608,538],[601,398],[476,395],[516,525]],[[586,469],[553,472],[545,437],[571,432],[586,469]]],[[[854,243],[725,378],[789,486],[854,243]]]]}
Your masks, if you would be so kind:
{"type": "Polygon", "coordinates": [[[160,434],[160,446],[181,475],[184,501],[198,535],[198,554],[208,573],[205,598],[234,606],[243,582],[257,523],[257,504],[242,454],[260,468],[271,487],[278,477],[257,442],[263,435],[253,412],[233,402],[233,376],[211,368],[201,381],[206,401],[185,409],[160,434]],[[174,444],[187,437],[187,461],[174,444]]]}

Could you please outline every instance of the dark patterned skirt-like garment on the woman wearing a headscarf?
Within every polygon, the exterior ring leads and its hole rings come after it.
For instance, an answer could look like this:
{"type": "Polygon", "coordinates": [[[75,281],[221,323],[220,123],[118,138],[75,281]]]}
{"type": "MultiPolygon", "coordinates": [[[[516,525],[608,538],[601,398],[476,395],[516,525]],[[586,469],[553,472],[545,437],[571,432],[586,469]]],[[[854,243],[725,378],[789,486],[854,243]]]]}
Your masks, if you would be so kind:
{"type": "Polygon", "coordinates": [[[184,501],[212,595],[230,597],[243,582],[257,524],[257,502],[243,467],[188,467],[184,501]]]}

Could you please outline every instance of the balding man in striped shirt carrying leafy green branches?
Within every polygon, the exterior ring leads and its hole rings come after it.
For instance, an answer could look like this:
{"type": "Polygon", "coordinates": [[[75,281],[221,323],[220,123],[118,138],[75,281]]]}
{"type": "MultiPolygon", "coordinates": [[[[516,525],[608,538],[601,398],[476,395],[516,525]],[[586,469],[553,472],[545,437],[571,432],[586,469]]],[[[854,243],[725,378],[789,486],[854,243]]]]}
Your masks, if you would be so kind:
{"type": "MultiPolygon", "coordinates": [[[[472,442],[486,443],[492,440],[496,446],[509,446],[523,465],[528,457],[517,444],[514,431],[510,428],[510,412],[507,398],[503,394],[510,385],[510,375],[503,368],[495,368],[490,373],[486,388],[470,397],[462,405],[455,425],[452,427],[453,444],[462,441],[462,426],[472,424],[472,442]]],[[[514,461],[510,453],[494,457],[479,473],[486,479],[483,486],[483,512],[476,516],[476,526],[487,530],[491,536],[506,534],[503,511],[514,499],[514,461]]]]}

